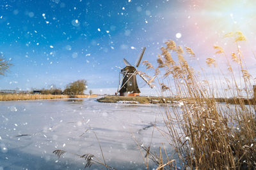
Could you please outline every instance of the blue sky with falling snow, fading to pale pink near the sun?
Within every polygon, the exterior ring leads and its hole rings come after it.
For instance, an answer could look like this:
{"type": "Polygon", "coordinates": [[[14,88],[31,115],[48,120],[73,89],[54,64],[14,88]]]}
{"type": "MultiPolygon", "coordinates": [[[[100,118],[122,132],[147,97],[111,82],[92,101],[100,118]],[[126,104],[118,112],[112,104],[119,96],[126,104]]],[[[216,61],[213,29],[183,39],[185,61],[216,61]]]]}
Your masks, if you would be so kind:
{"type": "Polygon", "coordinates": [[[79,79],[88,89],[117,88],[115,66],[124,67],[124,57],[134,63],[143,46],[143,60],[153,63],[167,39],[190,46],[199,59],[211,57],[212,46],[224,45],[221,36],[234,31],[225,16],[211,1],[1,0],[0,52],[13,66],[0,77],[0,89],[63,89],[79,79]]]}

